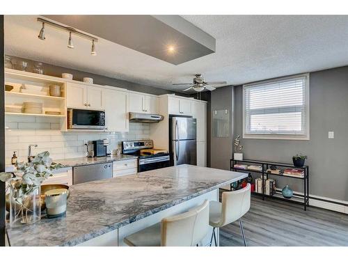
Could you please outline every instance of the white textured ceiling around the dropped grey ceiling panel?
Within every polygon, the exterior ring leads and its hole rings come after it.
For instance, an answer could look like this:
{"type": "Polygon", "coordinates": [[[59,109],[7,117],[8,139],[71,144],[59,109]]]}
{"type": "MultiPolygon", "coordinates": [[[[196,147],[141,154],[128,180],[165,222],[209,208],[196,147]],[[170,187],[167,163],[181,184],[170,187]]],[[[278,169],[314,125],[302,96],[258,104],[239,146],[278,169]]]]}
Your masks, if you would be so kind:
{"type": "Polygon", "coordinates": [[[6,54],[170,90],[195,73],[237,85],[348,64],[348,16],[184,15],[216,38],[216,53],[180,65],[103,39],[90,56],[88,40],[68,49],[68,34],[48,26],[42,41],[36,17],[6,15],[6,54]]]}

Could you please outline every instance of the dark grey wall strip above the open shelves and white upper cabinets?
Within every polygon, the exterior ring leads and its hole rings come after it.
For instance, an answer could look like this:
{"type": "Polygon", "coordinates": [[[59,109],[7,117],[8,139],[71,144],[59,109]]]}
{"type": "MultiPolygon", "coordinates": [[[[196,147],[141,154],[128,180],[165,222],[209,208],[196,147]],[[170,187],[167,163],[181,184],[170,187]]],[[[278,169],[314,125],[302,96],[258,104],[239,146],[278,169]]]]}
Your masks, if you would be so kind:
{"type": "MultiPolygon", "coordinates": [[[[33,65],[34,65],[35,61],[28,60],[25,58],[18,58],[18,57],[14,57],[14,56],[10,56],[10,57],[14,58],[15,60],[19,59],[19,60],[28,61],[29,67],[28,67],[27,71],[28,72],[33,71],[33,65]]],[[[133,83],[131,81],[123,81],[120,79],[105,77],[105,76],[102,76],[99,74],[93,74],[93,73],[89,73],[89,72],[82,72],[79,70],[64,68],[64,67],[56,66],[56,65],[51,65],[48,63],[43,63],[43,68],[44,68],[45,74],[50,75],[50,76],[54,76],[54,77],[61,77],[61,74],[63,72],[68,72],[70,74],[73,74],[74,80],[77,80],[77,81],[82,81],[82,79],[84,77],[90,77],[90,78],[93,78],[93,82],[95,84],[116,86],[116,87],[120,87],[120,88],[127,88],[128,90],[134,90],[134,91],[138,91],[141,93],[150,93],[150,94],[154,94],[154,95],[174,93],[173,91],[170,91],[170,90],[164,90],[161,88],[155,88],[155,87],[147,86],[147,85],[143,85],[143,84],[136,84],[136,83],[133,83]]],[[[185,97],[188,96],[188,95],[185,95],[184,93],[175,93],[175,94],[185,96],[185,97]]]]}

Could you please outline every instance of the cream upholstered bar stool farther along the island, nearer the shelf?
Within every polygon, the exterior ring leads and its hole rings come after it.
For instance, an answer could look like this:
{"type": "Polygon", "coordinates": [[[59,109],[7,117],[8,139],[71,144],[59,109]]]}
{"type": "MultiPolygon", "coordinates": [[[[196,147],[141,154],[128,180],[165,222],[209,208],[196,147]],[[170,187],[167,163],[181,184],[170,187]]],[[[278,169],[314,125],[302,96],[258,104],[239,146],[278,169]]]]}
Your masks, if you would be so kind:
{"type": "Polygon", "coordinates": [[[245,235],[242,225],[242,216],[250,209],[251,185],[248,184],[243,189],[236,191],[223,192],[221,203],[210,201],[209,203],[209,225],[213,227],[210,246],[214,237],[215,246],[217,246],[215,228],[221,228],[229,223],[239,221],[240,231],[243,237],[244,246],[246,246],[245,235]]]}

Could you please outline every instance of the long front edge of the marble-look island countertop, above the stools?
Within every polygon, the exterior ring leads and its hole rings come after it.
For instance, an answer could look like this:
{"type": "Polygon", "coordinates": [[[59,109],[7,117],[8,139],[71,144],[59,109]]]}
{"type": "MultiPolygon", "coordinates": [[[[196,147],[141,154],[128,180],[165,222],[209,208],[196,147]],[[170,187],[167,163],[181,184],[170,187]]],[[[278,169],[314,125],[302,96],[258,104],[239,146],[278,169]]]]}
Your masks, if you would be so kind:
{"type": "Polygon", "coordinates": [[[144,213],[141,213],[141,214],[138,214],[137,216],[132,216],[130,217],[129,219],[125,219],[124,221],[120,221],[118,223],[113,223],[109,226],[106,226],[105,228],[102,228],[101,230],[95,230],[93,232],[90,232],[88,234],[85,234],[84,236],[82,237],[77,237],[75,239],[70,239],[68,242],[64,242],[63,244],[60,244],[59,246],[77,246],[78,244],[81,244],[81,243],[84,243],[90,239],[93,239],[95,237],[99,237],[101,235],[104,235],[106,234],[107,232],[111,232],[113,230],[116,230],[122,226],[126,226],[127,224],[130,224],[130,223],[134,223],[136,221],[139,221],[141,219],[144,219],[145,217],[148,217],[148,216],[151,216],[152,214],[156,214],[164,209],[168,209],[169,207],[173,207],[175,205],[179,205],[180,203],[183,203],[187,200],[190,200],[192,198],[196,198],[200,195],[203,195],[207,192],[210,192],[210,191],[213,191],[214,189],[219,189],[220,187],[223,187],[223,186],[226,186],[232,182],[236,182],[237,180],[242,180],[243,178],[245,177],[248,177],[248,174],[247,173],[241,173],[241,172],[238,172],[239,174],[242,174],[242,177],[236,177],[232,180],[228,180],[226,182],[223,182],[223,183],[220,183],[220,184],[216,184],[215,186],[213,187],[209,187],[209,189],[205,189],[203,191],[199,191],[197,193],[193,193],[189,196],[186,196],[184,198],[180,198],[180,199],[177,199],[177,200],[174,200],[172,201],[171,203],[167,203],[166,205],[161,205],[160,207],[157,207],[155,209],[150,209],[148,210],[147,212],[144,212],[144,213]]]}

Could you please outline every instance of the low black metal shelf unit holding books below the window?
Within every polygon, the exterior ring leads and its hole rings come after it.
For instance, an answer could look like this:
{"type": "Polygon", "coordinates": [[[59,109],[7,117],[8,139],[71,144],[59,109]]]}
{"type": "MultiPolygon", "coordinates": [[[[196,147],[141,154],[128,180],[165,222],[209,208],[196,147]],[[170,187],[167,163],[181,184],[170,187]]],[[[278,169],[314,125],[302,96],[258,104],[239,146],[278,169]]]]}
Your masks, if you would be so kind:
{"type": "MultiPolygon", "coordinates": [[[[303,180],[303,196],[296,195],[297,197],[303,198],[303,202],[301,203],[303,205],[304,210],[306,211],[307,207],[309,206],[309,166],[305,165],[303,167],[296,167],[293,164],[286,164],[286,163],[281,163],[281,162],[272,162],[272,161],[260,161],[260,160],[251,160],[251,159],[245,159],[245,160],[236,160],[236,159],[231,159],[230,160],[230,170],[231,171],[247,171],[251,173],[260,173],[262,174],[262,193],[257,193],[262,196],[262,200],[264,200],[265,197],[272,197],[271,195],[267,195],[264,193],[264,176],[266,176],[266,179],[268,179],[269,175],[272,176],[278,176],[278,177],[290,177],[298,180],[303,180]],[[258,164],[262,166],[262,171],[255,171],[251,169],[242,169],[242,168],[235,168],[235,164],[239,163],[246,163],[246,164],[258,164]],[[288,176],[288,175],[283,175],[283,174],[274,174],[274,173],[267,173],[267,169],[269,169],[269,166],[277,166],[277,167],[282,167],[282,168],[299,168],[303,169],[304,171],[304,176],[303,177],[293,177],[293,176],[288,176]]],[[[231,185],[231,190],[232,190],[232,185],[231,185]]],[[[279,199],[287,200],[286,198],[280,198],[276,197],[279,199]]],[[[296,201],[299,203],[298,201],[296,201]]]]}

